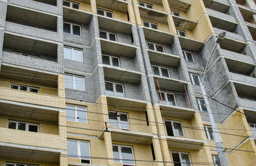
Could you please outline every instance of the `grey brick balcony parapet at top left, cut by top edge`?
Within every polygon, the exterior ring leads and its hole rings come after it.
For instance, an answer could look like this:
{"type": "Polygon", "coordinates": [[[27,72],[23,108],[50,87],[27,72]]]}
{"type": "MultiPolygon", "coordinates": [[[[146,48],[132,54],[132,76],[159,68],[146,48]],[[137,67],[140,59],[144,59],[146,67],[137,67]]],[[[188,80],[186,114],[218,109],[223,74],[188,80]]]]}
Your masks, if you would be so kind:
{"type": "Polygon", "coordinates": [[[62,15],[62,0],[57,0],[57,6],[52,6],[46,3],[41,3],[31,0],[8,0],[8,3],[15,4],[17,6],[23,6],[26,8],[33,8],[44,12],[49,12],[55,15],[62,15]]]}

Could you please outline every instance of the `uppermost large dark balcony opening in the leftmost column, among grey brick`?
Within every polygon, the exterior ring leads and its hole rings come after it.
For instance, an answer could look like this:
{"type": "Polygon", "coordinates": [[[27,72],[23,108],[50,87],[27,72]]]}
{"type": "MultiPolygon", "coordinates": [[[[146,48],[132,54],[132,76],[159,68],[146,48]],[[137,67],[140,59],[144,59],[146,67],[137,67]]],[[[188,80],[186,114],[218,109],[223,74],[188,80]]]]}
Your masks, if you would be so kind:
{"type": "Polygon", "coordinates": [[[57,17],[42,12],[8,6],[6,21],[57,32],[57,17]]]}

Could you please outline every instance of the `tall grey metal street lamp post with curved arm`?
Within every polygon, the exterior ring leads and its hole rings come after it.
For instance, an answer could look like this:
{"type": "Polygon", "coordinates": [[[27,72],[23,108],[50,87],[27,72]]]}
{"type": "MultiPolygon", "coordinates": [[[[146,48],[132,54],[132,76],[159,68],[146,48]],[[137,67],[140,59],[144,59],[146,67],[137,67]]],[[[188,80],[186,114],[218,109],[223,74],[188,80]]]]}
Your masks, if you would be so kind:
{"type": "Polygon", "coordinates": [[[228,166],[228,160],[225,156],[225,149],[223,148],[223,142],[221,140],[221,134],[219,133],[219,131],[216,127],[216,124],[214,122],[214,118],[212,116],[212,110],[210,108],[210,104],[209,104],[209,101],[208,101],[208,98],[207,98],[207,95],[206,95],[206,92],[205,92],[205,86],[203,85],[203,81],[205,79],[205,73],[207,71],[207,66],[210,62],[212,54],[213,54],[216,46],[219,44],[219,42],[221,42],[222,39],[224,39],[224,37],[225,37],[225,31],[222,30],[221,33],[219,33],[218,39],[216,39],[216,45],[214,46],[214,48],[212,50],[212,53],[211,53],[210,57],[207,60],[207,63],[206,63],[206,66],[205,66],[205,71],[203,73],[203,80],[200,83],[200,89],[203,93],[203,99],[205,100],[205,106],[206,106],[207,112],[209,114],[210,122],[212,124],[212,132],[213,132],[212,135],[214,137],[214,142],[215,142],[215,145],[216,145],[216,148],[217,148],[217,151],[218,151],[218,155],[219,155],[219,159],[221,161],[221,165],[222,166],[228,166]]]}

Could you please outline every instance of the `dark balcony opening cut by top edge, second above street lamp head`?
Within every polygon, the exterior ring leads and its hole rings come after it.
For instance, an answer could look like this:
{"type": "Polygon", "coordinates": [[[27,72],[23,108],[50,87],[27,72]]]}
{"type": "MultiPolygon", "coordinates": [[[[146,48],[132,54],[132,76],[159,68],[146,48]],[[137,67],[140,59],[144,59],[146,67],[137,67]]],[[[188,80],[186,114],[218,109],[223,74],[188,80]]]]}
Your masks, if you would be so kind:
{"type": "Polygon", "coordinates": [[[203,0],[205,8],[228,14],[229,6],[219,3],[218,1],[203,0]]]}

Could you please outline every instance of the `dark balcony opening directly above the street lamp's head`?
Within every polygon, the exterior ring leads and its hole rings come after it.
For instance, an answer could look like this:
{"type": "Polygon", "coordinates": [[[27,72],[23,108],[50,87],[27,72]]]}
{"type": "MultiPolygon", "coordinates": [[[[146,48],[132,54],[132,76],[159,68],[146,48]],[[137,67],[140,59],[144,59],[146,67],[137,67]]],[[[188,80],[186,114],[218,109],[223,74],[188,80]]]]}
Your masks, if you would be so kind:
{"type": "Polygon", "coordinates": [[[230,21],[225,21],[216,17],[209,16],[214,28],[219,28],[221,30],[227,30],[230,33],[237,33],[237,24],[230,21]]]}

